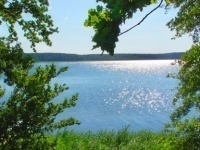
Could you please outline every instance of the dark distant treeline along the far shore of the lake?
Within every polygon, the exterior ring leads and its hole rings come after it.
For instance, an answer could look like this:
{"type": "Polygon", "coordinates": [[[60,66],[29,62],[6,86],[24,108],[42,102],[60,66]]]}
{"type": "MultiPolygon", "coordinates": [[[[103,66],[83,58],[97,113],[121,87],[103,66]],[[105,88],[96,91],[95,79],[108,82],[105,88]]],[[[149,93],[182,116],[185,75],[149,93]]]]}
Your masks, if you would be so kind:
{"type": "Polygon", "coordinates": [[[117,60],[170,60],[180,59],[184,53],[164,54],[65,54],[65,53],[26,53],[37,61],[117,61],[117,60]]]}

